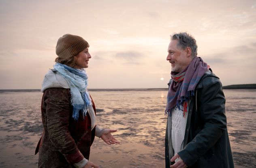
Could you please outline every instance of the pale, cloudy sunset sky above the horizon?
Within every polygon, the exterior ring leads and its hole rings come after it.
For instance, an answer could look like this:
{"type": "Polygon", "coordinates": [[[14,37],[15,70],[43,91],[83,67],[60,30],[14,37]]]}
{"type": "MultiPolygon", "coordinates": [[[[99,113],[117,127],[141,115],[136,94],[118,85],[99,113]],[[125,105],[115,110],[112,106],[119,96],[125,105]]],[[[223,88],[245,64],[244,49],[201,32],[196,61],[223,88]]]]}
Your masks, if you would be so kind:
{"type": "Polygon", "coordinates": [[[166,88],[175,32],[222,85],[256,83],[255,0],[0,0],[0,89],[41,89],[64,34],[90,44],[89,89],[166,88]]]}

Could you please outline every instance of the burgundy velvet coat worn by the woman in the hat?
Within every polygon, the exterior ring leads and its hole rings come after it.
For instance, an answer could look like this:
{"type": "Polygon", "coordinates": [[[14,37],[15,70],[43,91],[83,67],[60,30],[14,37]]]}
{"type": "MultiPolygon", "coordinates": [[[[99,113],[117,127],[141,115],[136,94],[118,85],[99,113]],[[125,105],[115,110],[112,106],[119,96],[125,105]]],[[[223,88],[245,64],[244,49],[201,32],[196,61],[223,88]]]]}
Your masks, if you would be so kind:
{"type": "Polygon", "coordinates": [[[79,112],[78,121],[73,119],[70,98],[70,89],[64,88],[49,88],[43,94],[43,135],[36,147],[39,168],[72,168],[84,157],[89,159],[95,127],[91,129],[88,113],[83,118],[79,112]]]}

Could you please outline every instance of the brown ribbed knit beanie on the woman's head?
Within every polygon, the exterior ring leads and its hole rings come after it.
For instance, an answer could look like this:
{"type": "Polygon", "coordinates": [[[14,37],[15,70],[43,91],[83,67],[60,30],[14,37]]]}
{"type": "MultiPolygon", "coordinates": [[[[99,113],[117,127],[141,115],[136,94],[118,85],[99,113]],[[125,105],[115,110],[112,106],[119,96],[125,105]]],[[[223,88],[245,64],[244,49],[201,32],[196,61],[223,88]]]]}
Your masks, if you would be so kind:
{"type": "Polygon", "coordinates": [[[67,59],[77,55],[87,47],[89,47],[89,44],[80,36],[65,34],[57,42],[56,54],[60,58],[67,59]]]}

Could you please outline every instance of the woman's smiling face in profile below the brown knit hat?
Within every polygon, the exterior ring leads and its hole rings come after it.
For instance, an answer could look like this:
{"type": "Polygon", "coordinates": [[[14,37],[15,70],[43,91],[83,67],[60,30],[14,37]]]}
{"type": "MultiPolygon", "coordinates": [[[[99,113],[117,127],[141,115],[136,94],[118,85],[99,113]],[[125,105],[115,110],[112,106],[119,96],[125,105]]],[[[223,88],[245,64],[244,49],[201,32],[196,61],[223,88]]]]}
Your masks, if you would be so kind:
{"type": "Polygon", "coordinates": [[[78,55],[75,56],[75,67],[77,69],[88,68],[88,62],[91,58],[91,55],[88,51],[88,47],[81,51],[78,55]]]}

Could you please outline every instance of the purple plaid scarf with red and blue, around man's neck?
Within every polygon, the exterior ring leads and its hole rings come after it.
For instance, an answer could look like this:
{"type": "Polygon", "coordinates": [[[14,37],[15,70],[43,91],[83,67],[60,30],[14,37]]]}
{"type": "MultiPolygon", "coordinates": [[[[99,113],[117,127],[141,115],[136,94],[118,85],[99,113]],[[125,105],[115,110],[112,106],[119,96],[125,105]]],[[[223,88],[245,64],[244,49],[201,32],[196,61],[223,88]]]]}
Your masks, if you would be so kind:
{"type": "Polygon", "coordinates": [[[188,67],[182,72],[171,72],[171,85],[167,94],[165,115],[171,115],[177,105],[183,111],[183,116],[188,111],[188,100],[194,96],[196,85],[208,70],[207,63],[201,57],[195,57],[188,67]]]}

